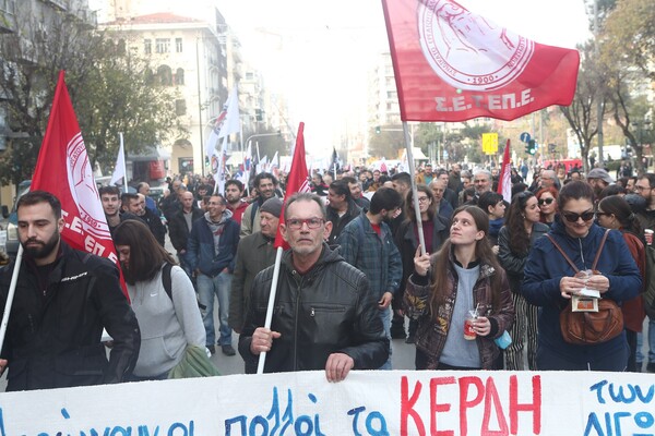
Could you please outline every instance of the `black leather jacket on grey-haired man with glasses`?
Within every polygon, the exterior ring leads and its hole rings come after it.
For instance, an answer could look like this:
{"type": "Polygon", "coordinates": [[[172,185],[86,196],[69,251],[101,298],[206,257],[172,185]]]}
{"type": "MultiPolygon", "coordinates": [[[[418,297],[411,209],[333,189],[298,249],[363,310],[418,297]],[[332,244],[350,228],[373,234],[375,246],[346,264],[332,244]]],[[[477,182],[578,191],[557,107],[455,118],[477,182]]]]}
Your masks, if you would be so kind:
{"type": "MultiPolygon", "coordinates": [[[[274,266],[254,279],[250,308],[239,352],[246,372],[257,367],[250,352],[252,334],[263,326],[274,266]]],[[[389,358],[380,311],[366,276],[323,244],[317,264],[305,275],[291,264],[291,252],[282,261],[271,329],[274,339],[266,355],[265,373],[324,370],[330,354],[341,352],[355,361],[355,370],[379,368],[389,358]]]]}

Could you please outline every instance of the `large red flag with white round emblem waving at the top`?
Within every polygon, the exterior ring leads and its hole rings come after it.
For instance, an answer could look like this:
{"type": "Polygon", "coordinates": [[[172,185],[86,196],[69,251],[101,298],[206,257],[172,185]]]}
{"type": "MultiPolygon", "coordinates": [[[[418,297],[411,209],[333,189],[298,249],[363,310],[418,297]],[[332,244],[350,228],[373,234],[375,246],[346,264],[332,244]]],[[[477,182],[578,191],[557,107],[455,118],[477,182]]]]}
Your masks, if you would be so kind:
{"type": "Polygon", "coordinates": [[[513,120],[575,94],[577,50],[516,35],[453,0],[382,0],[403,121],[513,120]]]}

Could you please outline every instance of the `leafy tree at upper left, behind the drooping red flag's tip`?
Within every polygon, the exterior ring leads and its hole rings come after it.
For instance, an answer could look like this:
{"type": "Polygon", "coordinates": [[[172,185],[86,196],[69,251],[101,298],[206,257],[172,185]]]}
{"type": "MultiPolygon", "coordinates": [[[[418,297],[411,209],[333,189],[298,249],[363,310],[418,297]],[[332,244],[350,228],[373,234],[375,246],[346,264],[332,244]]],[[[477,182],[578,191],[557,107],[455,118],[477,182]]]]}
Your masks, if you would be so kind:
{"type": "Polygon", "coordinates": [[[13,140],[0,156],[0,182],[32,178],[60,70],[67,71],[92,164],[114,166],[119,132],[134,145],[130,152],[183,134],[175,92],[147,82],[144,60],[80,20],[81,13],[51,10],[37,22],[31,8],[16,3],[15,32],[1,36],[0,95],[13,140]]]}

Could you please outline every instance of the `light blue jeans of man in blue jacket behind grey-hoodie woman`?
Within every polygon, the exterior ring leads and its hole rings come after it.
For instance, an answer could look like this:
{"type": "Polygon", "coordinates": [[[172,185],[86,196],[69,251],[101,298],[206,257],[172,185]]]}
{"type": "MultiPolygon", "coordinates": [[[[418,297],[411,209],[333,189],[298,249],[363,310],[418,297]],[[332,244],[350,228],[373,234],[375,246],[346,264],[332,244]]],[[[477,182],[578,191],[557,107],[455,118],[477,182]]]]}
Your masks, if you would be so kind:
{"type": "Polygon", "coordinates": [[[216,332],[214,330],[214,294],[218,298],[218,320],[221,322],[219,346],[231,346],[231,328],[227,324],[229,314],[229,293],[231,290],[231,277],[229,272],[221,272],[216,277],[200,274],[196,278],[198,296],[200,303],[206,306],[202,314],[202,323],[207,335],[207,347],[214,346],[216,332]]]}

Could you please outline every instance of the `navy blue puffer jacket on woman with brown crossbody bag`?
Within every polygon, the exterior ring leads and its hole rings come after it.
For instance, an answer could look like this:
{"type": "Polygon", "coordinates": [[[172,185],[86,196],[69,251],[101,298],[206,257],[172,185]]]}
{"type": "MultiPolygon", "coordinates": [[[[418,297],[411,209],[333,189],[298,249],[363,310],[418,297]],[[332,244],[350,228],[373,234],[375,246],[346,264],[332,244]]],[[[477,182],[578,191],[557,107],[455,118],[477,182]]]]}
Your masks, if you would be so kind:
{"type": "MultiPolygon", "coordinates": [[[[559,218],[550,235],[580,270],[591,269],[605,229],[592,225],[585,238],[572,238],[559,218]]],[[[611,230],[600,253],[596,269],[609,279],[609,290],[603,294],[616,302],[635,298],[642,289],[642,278],[630,255],[621,232],[611,230]]],[[[539,348],[556,352],[571,362],[591,362],[620,352],[627,347],[626,335],[621,334],[607,342],[592,346],[575,346],[562,338],[559,316],[568,303],[560,293],[562,277],[575,272],[548,238],[536,241],[525,264],[525,278],[521,292],[528,303],[540,306],[538,330],[539,348]]]]}

